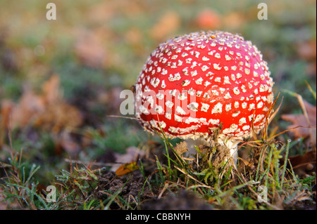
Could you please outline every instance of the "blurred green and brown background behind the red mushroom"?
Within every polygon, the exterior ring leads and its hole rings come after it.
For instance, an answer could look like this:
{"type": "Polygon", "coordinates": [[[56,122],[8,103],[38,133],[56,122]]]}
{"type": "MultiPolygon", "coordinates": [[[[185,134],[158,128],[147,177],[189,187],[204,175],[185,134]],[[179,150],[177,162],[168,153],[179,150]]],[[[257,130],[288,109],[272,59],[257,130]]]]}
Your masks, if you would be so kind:
{"type": "MultiPolygon", "coordinates": [[[[47,20],[49,2],[0,1],[1,161],[23,148],[25,159],[61,168],[58,156],[106,162],[108,150],[137,147],[150,138],[137,121],[107,117],[120,115],[120,91],[159,43],[201,29],[237,32],[263,53],[284,97],[272,129],[290,125],[280,114],[302,114],[292,93],[316,105],[314,0],[263,1],[268,20],[254,0],[51,1],[56,20],[47,20]]],[[[54,179],[46,166],[42,178],[54,179]]]]}

